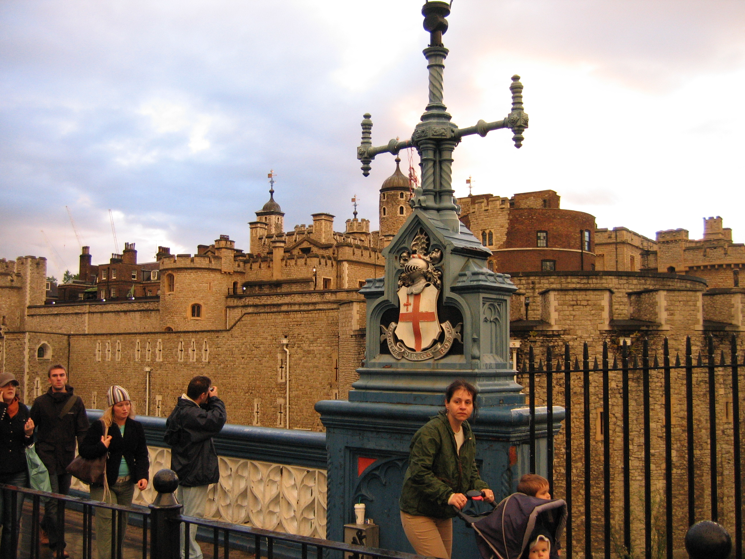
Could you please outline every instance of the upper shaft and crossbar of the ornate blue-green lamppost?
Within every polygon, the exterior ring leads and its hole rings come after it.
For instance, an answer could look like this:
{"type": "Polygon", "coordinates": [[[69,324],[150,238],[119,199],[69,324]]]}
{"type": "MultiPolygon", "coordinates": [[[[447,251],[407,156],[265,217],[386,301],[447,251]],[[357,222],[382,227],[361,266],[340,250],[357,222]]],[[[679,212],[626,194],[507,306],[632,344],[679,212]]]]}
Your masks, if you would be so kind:
{"type": "Polygon", "coordinates": [[[478,134],[486,136],[489,130],[510,128],[513,131],[515,147],[522,146],[522,132],[527,128],[527,114],[522,106],[522,83],[520,76],[512,77],[512,110],[502,120],[494,122],[478,121],[475,126],[459,128],[450,121],[451,116],[443,102],[443,71],[448,49],[443,46],[443,34],[448,30],[447,16],[450,4],[444,1],[428,1],[422,7],[424,28],[429,31],[430,42],[424,49],[429,69],[429,103],[422,114],[421,122],[416,124],[410,139],[392,139],[387,145],[373,147],[373,121],[370,113],[365,113],[362,121],[362,141],[357,148],[357,159],[362,162],[362,174],[370,174],[370,163],[378,154],[397,155],[405,148],[416,148],[422,166],[422,183],[414,189],[410,205],[413,208],[431,210],[440,221],[451,230],[460,227],[457,205],[452,189],[452,163],[455,146],[463,136],[478,134]]]}

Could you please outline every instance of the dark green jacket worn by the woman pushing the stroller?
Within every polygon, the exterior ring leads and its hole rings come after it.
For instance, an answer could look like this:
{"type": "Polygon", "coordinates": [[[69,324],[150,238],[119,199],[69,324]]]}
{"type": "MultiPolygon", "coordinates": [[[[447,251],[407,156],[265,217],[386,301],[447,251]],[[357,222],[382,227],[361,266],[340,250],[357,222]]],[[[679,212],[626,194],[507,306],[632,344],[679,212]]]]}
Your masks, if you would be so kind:
{"type": "Polygon", "coordinates": [[[409,467],[401,490],[399,507],[418,517],[452,518],[448,505],[452,493],[466,493],[489,486],[478,476],[476,439],[467,421],[463,445],[457,452],[455,434],[444,412],[432,417],[411,439],[409,467]]]}

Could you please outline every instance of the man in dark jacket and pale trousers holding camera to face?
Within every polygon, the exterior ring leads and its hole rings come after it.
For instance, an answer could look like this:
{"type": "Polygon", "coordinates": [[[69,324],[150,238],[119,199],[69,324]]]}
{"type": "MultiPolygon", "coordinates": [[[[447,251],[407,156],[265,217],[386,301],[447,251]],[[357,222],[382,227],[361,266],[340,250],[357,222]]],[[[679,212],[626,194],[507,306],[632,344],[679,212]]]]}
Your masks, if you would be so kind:
{"type": "MultiPolygon", "coordinates": [[[[212,437],[223,429],[225,404],[218,398],[218,388],[207,376],[195,376],[188,383],[174,411],[165,421],[166,443],[171,446],[171,470],[179,476],[177,499],[188,517],[204,517],[209,484],[220,481],[218,453],[212,437]]],[[[189,558],[203,559],[196,540],[197,526],[189,527],[189,558]]],[[[181,557],[183,554],[181,527],[181,557]]]]}

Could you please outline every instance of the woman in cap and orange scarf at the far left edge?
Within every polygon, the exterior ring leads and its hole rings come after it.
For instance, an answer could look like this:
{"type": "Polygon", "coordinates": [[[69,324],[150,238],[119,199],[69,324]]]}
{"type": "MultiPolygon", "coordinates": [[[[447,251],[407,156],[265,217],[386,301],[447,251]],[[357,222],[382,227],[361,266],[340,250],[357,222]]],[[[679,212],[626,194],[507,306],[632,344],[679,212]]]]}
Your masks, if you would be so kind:
{"type": "MultiPolygon", "coordinates": [[[[0,483],[28,487],[28,465],[26,464],[26,446],[34,442],[34,420],[28,408],[16,394],[18,381],[13,373],[0,374],[0,483]]],[[[23,510],[24,494],[18,493],[16,505],[16,529],[23,510]]],[[[0,558],[16,556],[13,545],[13,510],[12,493],[0,491],[0,522],[2,539],[0,540],[0,558]]],[[[16,532],[17,534],[18,532],[16,532]]]]}

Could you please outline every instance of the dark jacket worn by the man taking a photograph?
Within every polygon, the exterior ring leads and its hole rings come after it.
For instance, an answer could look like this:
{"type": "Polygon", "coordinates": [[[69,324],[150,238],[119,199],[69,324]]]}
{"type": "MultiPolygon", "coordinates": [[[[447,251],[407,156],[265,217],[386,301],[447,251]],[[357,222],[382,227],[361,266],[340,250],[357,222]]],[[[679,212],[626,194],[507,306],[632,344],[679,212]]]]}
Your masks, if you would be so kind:
{"type": "Polygon", "coordinates": [[[225,404],[215,396],[203,406],[179,398],[165,420],[163,440],[171,446],[171,470],[184,487],[209,485],[220,481],[218,453],[212,437],[223,429],[225,404]]]}

